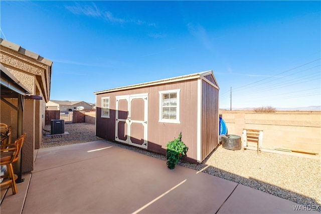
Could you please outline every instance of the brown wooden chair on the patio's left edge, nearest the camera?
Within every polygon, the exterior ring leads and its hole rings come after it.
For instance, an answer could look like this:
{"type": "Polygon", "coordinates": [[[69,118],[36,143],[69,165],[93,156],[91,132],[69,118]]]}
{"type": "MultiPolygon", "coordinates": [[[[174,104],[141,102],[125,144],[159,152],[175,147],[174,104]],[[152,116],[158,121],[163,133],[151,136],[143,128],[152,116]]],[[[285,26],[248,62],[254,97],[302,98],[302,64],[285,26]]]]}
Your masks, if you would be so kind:
{"type": "Polygon", "coordinates": [[[5,178],[1,183],[1,186],[10,185],[13,194],[16,194],[18,191],[16,186],[17,175],[14,174],[12,163],[18,160],[25,137],[26,133],[21,135],[15,143],[6,144],[7,148],[1,149],[1,165],[7,166],[7,174],[1,176],[1,178],[5,178]]]}

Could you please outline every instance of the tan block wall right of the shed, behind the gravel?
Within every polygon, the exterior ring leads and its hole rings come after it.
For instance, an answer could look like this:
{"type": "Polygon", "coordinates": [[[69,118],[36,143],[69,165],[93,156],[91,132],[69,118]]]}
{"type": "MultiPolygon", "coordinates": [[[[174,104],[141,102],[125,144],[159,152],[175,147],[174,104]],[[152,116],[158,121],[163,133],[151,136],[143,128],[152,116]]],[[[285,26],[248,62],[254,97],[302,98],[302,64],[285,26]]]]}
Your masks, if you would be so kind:
{"type": "Polygon", "coordinates": [[[321,112],[221,111],[220,115],[228,134],[242,136],[243,128],[263,130],[263,148],[321,154],[321,112]]]}

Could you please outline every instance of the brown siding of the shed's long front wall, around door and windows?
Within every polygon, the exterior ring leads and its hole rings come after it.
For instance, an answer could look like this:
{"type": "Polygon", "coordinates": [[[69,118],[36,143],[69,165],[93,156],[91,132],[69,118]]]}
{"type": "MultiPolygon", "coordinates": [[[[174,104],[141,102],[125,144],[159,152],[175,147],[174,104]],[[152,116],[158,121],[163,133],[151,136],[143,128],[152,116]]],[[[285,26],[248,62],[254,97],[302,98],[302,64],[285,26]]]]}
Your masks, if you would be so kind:
{"type": "MultiPolygon", "coordinates": [[[[182,140],[189,147],[187,157],[197,160],[197,79],[185,80],[163,85],[147,86],[129,90],[97,94],[96,98],[96,135],[98,137],[115,139],[116,98],[121,95],[148,93],[147,140],[150,151],[166,154],[166,145],[177,138],[182,132],[182,140]],[[180,89],[180,124],[158,122],[159,91],[180,89]],[[110,97],[110,118],[101,117],[101,98],[110,97]]],[[[125,112],[124,112],[125,113],[125,112]]],[[[137,115],[137,117],[140,117],[137,115]]]]}

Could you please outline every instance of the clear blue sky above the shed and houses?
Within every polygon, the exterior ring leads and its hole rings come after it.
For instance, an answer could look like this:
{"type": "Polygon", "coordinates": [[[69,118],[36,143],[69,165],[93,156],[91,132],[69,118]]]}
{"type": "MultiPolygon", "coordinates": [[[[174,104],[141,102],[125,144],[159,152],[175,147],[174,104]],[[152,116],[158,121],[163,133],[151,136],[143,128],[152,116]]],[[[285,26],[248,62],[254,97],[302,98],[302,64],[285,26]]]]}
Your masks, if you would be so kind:
{"type": "Polygon", "coordinates": [[[52,100],[213,70],[220,107],[321,105],[320,1],[1,1],[1,38],[52,60],[52,100]]]}

